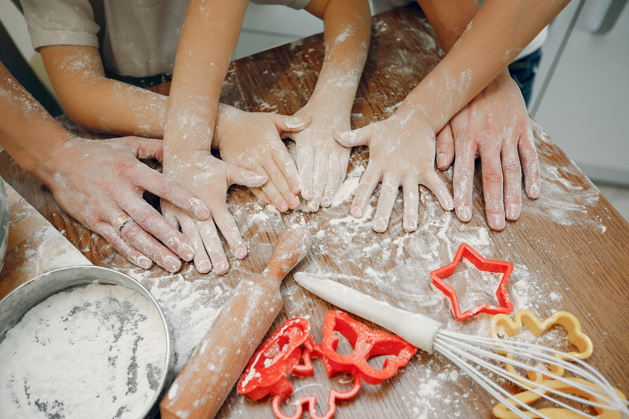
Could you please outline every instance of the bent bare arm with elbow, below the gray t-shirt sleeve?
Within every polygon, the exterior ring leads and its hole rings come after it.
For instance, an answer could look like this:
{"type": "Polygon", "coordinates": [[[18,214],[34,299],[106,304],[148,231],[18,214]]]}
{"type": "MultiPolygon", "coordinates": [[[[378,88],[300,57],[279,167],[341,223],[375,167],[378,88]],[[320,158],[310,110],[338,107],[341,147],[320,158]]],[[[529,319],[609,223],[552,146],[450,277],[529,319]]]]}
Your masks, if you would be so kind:
{"type": "Polygon", "coordinates": [[[72,121],[94,132],[162,138],[168,98],[105,77],[97,48],[40,48],[50,82],[72,121]]]}

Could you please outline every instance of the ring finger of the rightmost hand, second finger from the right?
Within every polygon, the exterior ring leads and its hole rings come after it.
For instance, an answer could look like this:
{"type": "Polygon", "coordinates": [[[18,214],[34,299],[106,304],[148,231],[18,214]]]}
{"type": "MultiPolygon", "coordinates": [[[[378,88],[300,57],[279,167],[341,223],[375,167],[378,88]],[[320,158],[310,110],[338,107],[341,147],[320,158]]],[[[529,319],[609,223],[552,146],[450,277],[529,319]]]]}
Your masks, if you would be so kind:
{"type": "Polygon", "coordinates": [[[517,138],[503,145],[501,160],[504,177],[504,215],[509,221],[520,216],[522,208],[522,169],[517,150],[517,138]]]}

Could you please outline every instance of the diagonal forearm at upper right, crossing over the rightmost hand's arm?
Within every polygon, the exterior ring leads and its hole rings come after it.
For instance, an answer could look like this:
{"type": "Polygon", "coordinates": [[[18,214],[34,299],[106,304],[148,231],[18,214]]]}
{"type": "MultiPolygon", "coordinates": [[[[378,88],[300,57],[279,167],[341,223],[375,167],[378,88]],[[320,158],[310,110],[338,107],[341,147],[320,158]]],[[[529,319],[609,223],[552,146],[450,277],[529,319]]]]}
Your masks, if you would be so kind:
{"type": "Polygon", "coordinates": [[[398,109],[435,133],[476,96],[569,3],[487,0],[444,59],[398,109]],[[526,21],[528,25],[521,25],[526,21]]]}

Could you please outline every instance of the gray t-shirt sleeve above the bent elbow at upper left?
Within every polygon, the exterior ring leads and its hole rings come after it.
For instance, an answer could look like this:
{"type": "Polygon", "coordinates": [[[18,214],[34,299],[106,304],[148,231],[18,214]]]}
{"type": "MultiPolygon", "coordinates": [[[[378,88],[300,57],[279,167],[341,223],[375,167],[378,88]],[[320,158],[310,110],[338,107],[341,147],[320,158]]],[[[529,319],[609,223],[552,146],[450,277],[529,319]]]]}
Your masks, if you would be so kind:
{"type": "Polygon", "coordinates": [[[47,45],[87,45],[98,48],[89,0],[21,0],[33,48],[47,45]]]}

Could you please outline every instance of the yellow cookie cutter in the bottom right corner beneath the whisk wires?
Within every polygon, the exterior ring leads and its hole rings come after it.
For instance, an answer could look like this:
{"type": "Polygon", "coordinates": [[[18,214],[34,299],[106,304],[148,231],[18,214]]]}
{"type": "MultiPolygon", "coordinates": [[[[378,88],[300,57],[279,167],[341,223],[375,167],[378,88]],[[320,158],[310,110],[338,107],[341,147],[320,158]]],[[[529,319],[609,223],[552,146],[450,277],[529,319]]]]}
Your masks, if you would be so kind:
{"type": "MultiPolygon", "coordinates": [[[[585,384],[586,386],[589,386],[594,389],[601,390],[601,388],[597,386],[596,384],[590,383],[589,381],[586,381],[582,378],[566,378],[566,379],[570,381],[575,381],[577,383],[585,384]]],[[[610,398],[606,396],[596,397],[594,396],[594,394],[584,393],[584,391],[581,391],[575,388],[574,386],[571,386],[571,384],[562,383],[562,381],[558,381],[558,380],[545,380],[543,381],[542,385],[545,388],[563,391],[564,393],[578,394],[579,396],[588,398],[591,401],[595,401],[601,404],[604,404],[610,400],[610,398]]],[[[625,394],[621,393],[621,391],[616,388],[614,390],[616,391],[616,394],[618,394],[618,397],[620,397],[623,400],[626,400],[625,394]]],[[[547,392],[544,392],[544,394],[545,393],[547,392]]],[[[513,401],[509,401],[509,406],[504,405],[504,403],[498,403],[498,405],[494,406],[492,413],[498,419],[518,419],[520,416],[516,415],[511,410],[515,408],[520,408],[523,404],[530,405],[531,403],[533,403],[534,401],[537,401],[541,397],[542,396],[538,396],[532,391],[523,391],[522,393],[518,393],[515,395],[515,398],[518,399],[518,401],[520,401],[518,405],[513,406],[514,405],[513,401]]],[[[596,410],[596,413],[598,413],[598,416],[596,417],[599,419],[620,419],[621,418],[620,411],[608,410],[604,408],[599,408],[597,406],[594,406],[594,410],[596,410]]],[[[561,408],[545,408],[545,409],[539,409],[537,411],[541,415],[545,415],[551,419],[582,419],[583,418],[583,416],[579,415],[578,413],[574,413],[572,411],[561,409],[561,408]]],[[[530,411],[526,411],[523,413],[530,418],[542,417],[539,415],[534,415],[530,411]]]]}

